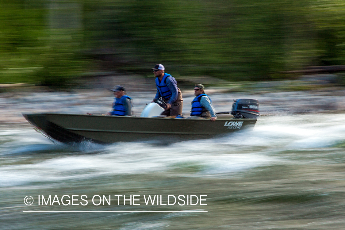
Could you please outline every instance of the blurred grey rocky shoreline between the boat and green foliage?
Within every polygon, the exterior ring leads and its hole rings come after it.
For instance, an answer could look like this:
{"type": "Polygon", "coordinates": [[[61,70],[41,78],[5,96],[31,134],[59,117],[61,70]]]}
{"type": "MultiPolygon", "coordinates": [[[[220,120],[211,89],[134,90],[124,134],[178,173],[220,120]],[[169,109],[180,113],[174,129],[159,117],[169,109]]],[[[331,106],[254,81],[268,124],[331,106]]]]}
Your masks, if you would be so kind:
{"type": "MultiPolygon", "coordinates": [[[[128,96],[133,98],[133,111],[140,116],[141,110],[155,96],[153,82],[140,82],[135,78],[117,79],[117,84],[126,86],[128,96]],[[126,82],[127,79],[127,82],[126,82]]],[[[152,79],[150,79],[152,80],[152,79]]],[[[282,83],[280,81],[280,83],[282,83]]],[[[286,82],[284,82],[286,84],[286,82]]],[[[262,84],[262,83],[261,83],[262,84]]],[[[111,109],[114,99],[108,90],[113,81],[93,84],[95,88],[50,91],[45,88],[21,87],[0,93],[0,123],[26,123],[22,113],[59,112],[77,114],[102,114],[111,109]]],[[[193,86],[193,83],[191,83],[193,86]]],[[[193,87],[191,87],[193,88],[193,87]]],[[[188,116],[194,92],[189,87],[181,87],[184,98],[183,113],[188,116]]],[[[246,86],[246,83],[206,87],[217,112],[230,111],[233,99],[255,98],[260,103],[260,113],[264,116],[300,113],[345,112],[345,88],[322,87],[314,90],[280,90],[277,83],[269,82],[261,86],[246,86]],[[269,86],[271,84],[271,87],[269,86]],[[273,87],[272,87],[273,85],[273,87]],[[247,89],[246,89],[247,88],[247,89]]]]}

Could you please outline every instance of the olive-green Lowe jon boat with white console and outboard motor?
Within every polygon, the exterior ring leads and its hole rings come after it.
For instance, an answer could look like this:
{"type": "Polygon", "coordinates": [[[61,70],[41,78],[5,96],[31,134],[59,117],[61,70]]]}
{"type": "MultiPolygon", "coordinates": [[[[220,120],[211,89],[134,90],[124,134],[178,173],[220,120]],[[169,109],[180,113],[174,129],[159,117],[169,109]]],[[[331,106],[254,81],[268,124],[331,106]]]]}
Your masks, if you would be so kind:
{"type": "Polygon", "coordinates": [[[23,116],[39,132],[63,143],[153,140],[176,142],[208,139],[234,131],[253,129],[257,117],[260,116],[258,101],[255,99],[234,101],[231,112],[217,113],[221,115],[214,122],[206,119],[178,118],[179,116],[176,118],[154,116],[164,110],[159,103],[150,103],[140,117],[63,113],[30,113],[23,116]]]}

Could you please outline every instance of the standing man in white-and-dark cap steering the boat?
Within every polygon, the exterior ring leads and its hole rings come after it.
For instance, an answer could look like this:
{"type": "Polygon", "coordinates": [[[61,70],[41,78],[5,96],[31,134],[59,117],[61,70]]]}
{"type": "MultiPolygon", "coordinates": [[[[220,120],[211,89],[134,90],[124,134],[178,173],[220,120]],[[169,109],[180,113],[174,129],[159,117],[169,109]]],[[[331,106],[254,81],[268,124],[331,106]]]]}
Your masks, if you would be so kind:
{"type": "Polygon", "coordinates": [[[157,93],[155,98],[162,98],[167,103],[167,108],[160,115],[177,116],[181,114],[183,99],[181,90],[177,88],[176,79],[164,72],[165,68],[162,64],[156,64],[152,70],[156,77],[157,93]]]}

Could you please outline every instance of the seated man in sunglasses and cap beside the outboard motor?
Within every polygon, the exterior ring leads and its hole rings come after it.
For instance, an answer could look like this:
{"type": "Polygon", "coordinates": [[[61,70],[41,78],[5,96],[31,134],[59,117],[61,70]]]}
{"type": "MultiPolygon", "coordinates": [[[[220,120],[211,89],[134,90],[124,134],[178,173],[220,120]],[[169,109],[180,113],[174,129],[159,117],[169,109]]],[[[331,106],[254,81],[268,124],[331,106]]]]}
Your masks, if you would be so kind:
{"type": "Polygon", "coordinates": [[[194,95],[196,96],[192,101],[192,108],[190,110],[190,116],[188,118],[206,118],[211,121],[217,119],[215,109],[212,106],[210,96],[205,94],[205,87],[202,84],[196,84],[194,86],[194,95]]]}

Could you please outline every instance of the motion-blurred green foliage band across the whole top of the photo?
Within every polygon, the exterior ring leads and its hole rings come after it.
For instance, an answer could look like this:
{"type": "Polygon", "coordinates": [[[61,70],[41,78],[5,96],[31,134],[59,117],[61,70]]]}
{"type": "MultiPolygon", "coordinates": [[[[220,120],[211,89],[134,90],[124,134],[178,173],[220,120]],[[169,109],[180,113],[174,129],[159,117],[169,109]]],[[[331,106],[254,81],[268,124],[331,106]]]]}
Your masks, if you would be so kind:
{"type": "Polygon", "coordinates": [[[0,0],[0,83],[89,71],[269,80],[345,62],[345,0],[0,0]]]}

